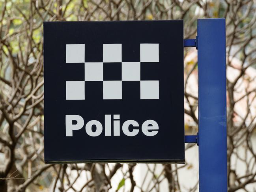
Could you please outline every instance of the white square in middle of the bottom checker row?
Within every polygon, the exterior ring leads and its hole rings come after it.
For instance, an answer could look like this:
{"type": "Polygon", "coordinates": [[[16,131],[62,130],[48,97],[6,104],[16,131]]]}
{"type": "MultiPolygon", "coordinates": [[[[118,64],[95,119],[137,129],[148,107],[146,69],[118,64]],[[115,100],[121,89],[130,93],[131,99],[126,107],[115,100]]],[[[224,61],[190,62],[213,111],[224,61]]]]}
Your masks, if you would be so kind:
{"type": "Polygon", "coordinates": [[[122,81],[103,81],[103,99],[122,99],[122,81]]]}

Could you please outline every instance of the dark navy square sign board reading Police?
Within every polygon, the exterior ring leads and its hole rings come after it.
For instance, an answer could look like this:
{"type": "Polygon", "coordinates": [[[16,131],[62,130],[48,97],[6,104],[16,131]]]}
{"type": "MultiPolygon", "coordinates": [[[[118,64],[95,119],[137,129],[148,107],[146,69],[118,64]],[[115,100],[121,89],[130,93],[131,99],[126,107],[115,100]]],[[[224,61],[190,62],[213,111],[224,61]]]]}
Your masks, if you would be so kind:
{"type": "Polygon", "coordinates": [[[183,21],[45,22],[45,162],[183,162],[183,21]]]}

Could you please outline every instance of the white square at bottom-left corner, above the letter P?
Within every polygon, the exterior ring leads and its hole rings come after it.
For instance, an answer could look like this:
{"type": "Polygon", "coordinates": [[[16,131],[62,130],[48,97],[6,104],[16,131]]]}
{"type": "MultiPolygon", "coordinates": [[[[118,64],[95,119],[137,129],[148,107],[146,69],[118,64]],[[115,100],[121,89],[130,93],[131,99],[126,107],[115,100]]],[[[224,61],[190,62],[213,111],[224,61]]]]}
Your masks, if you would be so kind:
{"type": "Polygon", "coordinates": [[[84,100],[84,81],[67,81],[66,99],[84,100]]]}

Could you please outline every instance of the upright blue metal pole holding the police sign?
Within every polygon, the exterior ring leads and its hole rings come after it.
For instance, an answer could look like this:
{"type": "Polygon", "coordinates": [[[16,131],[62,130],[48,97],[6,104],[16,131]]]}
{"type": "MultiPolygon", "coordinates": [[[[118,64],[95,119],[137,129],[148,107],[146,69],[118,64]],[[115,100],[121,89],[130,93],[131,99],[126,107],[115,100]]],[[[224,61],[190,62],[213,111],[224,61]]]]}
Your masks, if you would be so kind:
{"type": "Polygon", "coordinates": [[[199,189],[227,192],[225,19],[199,19],[199,189]]]}

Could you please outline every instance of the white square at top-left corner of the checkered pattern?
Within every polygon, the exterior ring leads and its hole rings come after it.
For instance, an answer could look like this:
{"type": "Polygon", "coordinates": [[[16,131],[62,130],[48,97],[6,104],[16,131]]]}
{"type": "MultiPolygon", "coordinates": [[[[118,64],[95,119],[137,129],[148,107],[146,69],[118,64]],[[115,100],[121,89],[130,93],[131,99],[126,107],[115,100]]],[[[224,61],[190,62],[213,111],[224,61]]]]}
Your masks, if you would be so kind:
{"type": "Polygon", "coordinates": [[[66,45],[66,63],[84,63],[84,44],[66,45]]]}

